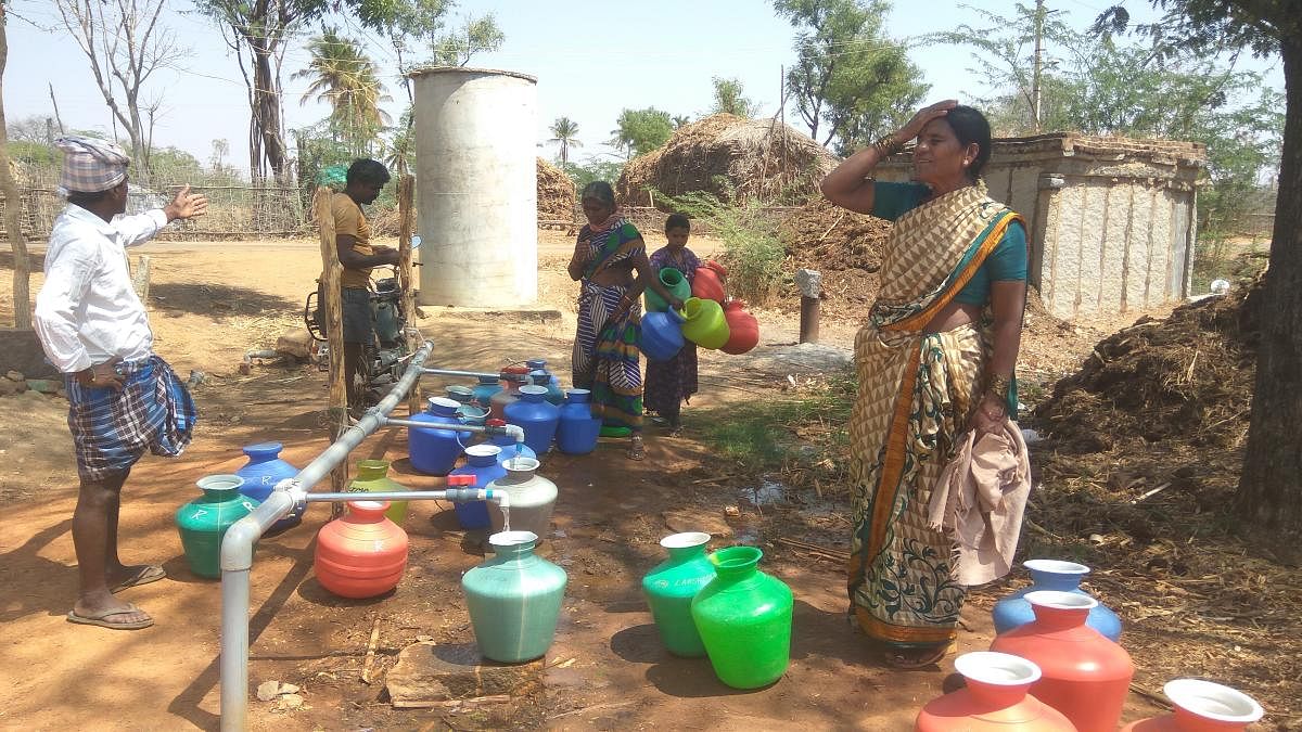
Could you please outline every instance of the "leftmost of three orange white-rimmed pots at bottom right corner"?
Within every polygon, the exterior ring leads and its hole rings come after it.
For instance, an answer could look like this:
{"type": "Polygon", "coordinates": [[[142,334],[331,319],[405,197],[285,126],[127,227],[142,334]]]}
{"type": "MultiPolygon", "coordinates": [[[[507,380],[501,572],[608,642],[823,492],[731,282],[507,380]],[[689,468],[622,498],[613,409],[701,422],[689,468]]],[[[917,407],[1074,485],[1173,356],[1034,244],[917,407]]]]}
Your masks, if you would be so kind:
{"type": "Polygon", "coordinates": [[[967,685],[922,707],[917,732],[1074,732],[1061,711],[1027,693],[1040,669],[1025,658],[970,653],[954,659],[954,669],[967,685]]]}

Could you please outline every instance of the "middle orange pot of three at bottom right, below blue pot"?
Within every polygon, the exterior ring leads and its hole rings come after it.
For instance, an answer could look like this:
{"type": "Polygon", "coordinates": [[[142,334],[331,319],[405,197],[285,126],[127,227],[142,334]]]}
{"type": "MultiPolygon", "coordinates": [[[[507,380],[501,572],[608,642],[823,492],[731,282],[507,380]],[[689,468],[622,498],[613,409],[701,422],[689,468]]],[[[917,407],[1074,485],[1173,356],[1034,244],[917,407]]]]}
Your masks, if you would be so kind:
{"type": "Polygon", "coordinates": [[[1081,732],[1113,732],[1135,667],[1130,654],[1085,624],[1099,600],[1075,593],[1029,593],[1035,620],[995,638],[990,650],[1040,667],[1031,694],[1081,732]]]}

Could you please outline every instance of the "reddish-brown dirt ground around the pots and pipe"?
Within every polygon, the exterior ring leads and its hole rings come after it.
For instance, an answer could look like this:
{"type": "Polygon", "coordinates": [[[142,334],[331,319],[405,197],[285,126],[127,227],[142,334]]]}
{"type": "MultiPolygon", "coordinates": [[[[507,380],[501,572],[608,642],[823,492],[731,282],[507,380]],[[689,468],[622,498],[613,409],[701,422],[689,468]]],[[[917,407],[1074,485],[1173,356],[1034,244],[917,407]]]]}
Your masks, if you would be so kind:
{"type": "MultiPolygon", "coordinates": [[[[491,370],[526,357],[546,357],[568,382],[574,285],[564,274],[570,240],[540,232],[540,301],[560,319],[506,322],[439,311],[421,322],[435,343],[436,365],[491,370]]],[[[656,237],[648,237],[652,247],[656,237]]],[[[713,244],[694,240],[699,254],[713,244]]],[[[201,422],[193,445],[174,461],[143,460],[128,483],[122,508],[124,559],[163,563],[168,578],[129,590],[126,598],[156,619],[141,632],[70,625],[76,597],[70,516],[76,468],[64,425],[66,405],[25,395],[0,401],[0,728],[212,729],[219,724],[219,584],[198,580],[184,563],[173,513],[195,495],[194,482],[232,472],[240,447],[285,443],[284,458],[302,465],[327,444],[322,405],[326,378],[314,367],[271,362],[238,374],[243,353],[273,344],[301,323],[302,297],[319,268],[315,242],[158,242],[152,258],[151,323],[156,350],[182,378],[204,373],[195,388],[201,422]],[[38,500],[40,499],[40,500],[38,500]]],[[[39,288],[34,277],[33,292],[39,288]]],[[[10,271],[0,270],[9,297],[10,271]]],[[[0,301],[0,320],[12,313],[0,301]]],[[[796,319],[759,310],[764,346],[796,341],[796,319]]],[[[1134,315],[1122,320],[1129,323],[1134,315]]],[[[823,340],[849,345],[857,323],[823,324],[823,340]]],[[[1053,324],[1029,336],[1031,382],[1051,383],[1075,369],[1090,344],[1117,323],[1053,324]]],[[[756,352],[756,354],[760,352],[756,352]]],[[[747,369],[747,358],[706,353],[702,395],[694,406],[767,399],[798,369],[747,369]]],[[[426,380],[427,391],[441,388],[426,380]]],[[[401,408],[400,408],[401,410],[401,408]]],[[[413,488],[439,479],[413,472],[402,430],[381,431],[355,458],[384,457],[413,488]]],[[[254,729],[907,729],[917,710],[941,693],[953,671],[898,672],[879,663],[845,621],[838,563],[777,543],[775,531],[844,547],[849,524],[828,501],[803,511],[756,507],[754,486],[721,474],[715,456],[693,436],[669,439],[654,429],[643,462],[624,458],[622,445],[591,456],[552,455],[543,473],[560,487],[555,531],[542,554],[570,577],[556,645],[544,683],[510,703],[477,710],[395,710],[383,672],[413,642],[473,642],[458,580],[482,561],[479,537],[457,529],[450,507],[413,504],[405,522],[410,563],[397,590],[374,600],[344,600],[316,584],[311,552],[328,518],[319,504],[303,526],[264,539],[253,572],[250,681],[297,684],[302,707],[251,698],[254,729]],[[742,516],[727,522],[725,505],[742,516]],[[796,594],[792,666],[777,684],[736,692],[713,679],[704,660],[661,650],[641,597],[641,576],[660,560],[658,541],[689,522],[711,526],[711,547],[758,543],[763,568],[796,594]],[[379,621],[380,681],[359,680],[372,624],[379,621]]],[[[680,528],[681,529],[681,528],[680,528]]],[[[975,594],[965,610],[960,651],[986,650],[996,595],[975,594]]],[[[1155,650],[1152,653],[1160,653],[1155,650]]],[[[1137,658],[1142,663],[1142,658],[1137,658]]],[[[1131,694],[1126,718],[1159,710],[1131,694]]]]}

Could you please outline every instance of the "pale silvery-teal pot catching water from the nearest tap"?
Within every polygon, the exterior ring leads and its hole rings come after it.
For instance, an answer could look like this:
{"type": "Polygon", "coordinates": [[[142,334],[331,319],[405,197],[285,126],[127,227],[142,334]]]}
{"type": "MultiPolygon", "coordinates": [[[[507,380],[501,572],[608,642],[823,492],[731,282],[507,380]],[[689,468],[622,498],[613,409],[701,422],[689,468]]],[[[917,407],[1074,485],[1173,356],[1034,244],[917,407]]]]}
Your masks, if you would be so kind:
{"type": "Polygon", "coordinates": [[[461,577],[475,645],[490,660],[533,660],[556,638],[569,578],[534,554],[536,542],[531,531],[493,534],[488,537],[493,557],[461,577]]]}

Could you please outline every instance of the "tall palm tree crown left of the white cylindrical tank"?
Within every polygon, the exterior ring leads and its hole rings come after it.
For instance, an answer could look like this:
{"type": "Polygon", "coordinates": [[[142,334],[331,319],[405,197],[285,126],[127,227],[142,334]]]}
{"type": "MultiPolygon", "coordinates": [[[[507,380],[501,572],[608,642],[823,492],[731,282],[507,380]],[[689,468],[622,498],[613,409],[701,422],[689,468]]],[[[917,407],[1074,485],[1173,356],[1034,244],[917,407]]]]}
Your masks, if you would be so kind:
{"type": "Polygon", "coordinates": [[[380,109],[380,103],[391,98],[384,94],[379,66],[362,53],[361,44],[331,27],[311,39],[307,49],[312,60],[292,77],[311,79],[301,103],[315,96],[329,104],[331,122],[344,132],[354,152],[366,152],[375,133],[389,124],[389,116],[380,109]]]}

